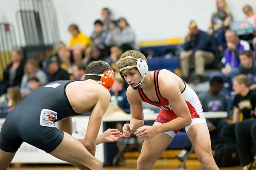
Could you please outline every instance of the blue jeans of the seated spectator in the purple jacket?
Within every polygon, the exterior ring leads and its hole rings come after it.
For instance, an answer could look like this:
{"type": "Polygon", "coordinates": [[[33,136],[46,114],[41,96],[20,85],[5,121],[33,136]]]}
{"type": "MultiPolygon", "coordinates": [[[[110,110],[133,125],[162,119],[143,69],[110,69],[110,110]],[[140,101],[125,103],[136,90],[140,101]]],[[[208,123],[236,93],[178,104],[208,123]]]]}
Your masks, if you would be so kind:
{"type": "Polygon", "coordinates": [[[216,72],[213,72],[211,75],[210,75],[210,79],[212,79],[212,77],[215,77],[215,76],[219,76],[219,77],[222,77],[223,81],[224,81],[224,84],[228,83],[228,87],[226,86],[222,86],[222,89],[221,89],[221,93],[224,94],[225,96],[227,95],[230,95],[230,92],[232,91],[232,80],[233,78],[236,76],[237,74],[237,71],[238,71],[238,68],[232,68],[231,71],[230,71],[230,77],[226,77],[224,74],[221,73],[221,71],[216,71],[216,72]]]}

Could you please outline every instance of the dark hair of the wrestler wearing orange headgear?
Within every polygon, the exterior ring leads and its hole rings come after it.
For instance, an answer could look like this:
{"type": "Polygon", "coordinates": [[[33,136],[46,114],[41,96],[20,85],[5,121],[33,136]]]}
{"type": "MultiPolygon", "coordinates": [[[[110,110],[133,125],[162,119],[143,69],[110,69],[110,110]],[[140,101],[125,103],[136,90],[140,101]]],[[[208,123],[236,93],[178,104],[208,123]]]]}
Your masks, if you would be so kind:
{"type": "MultiPolygon", "coordinates": [[[[87,66],[85,70],[85,74],[102,74],[106,70],[112,70],[112,68],[107,62],[104,62],[102,60],[93,61],[87,66]]],[[[86,75],[84,79],[100,80],[100,78],[101,78],[100,76],[86,75]]]]}

